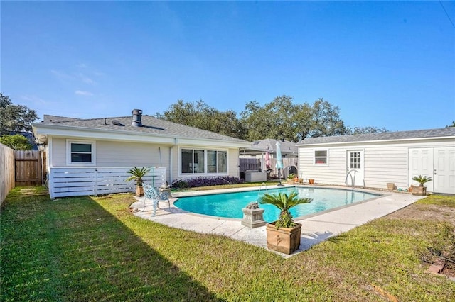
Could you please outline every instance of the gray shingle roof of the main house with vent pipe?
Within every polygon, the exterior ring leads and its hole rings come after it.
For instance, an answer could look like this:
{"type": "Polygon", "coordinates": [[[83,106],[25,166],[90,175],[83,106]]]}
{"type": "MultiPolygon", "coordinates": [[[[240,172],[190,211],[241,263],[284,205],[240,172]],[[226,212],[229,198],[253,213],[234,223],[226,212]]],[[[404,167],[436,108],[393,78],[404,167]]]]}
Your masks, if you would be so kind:
{"type": "MultiPolygon", "coordinates": [[[[143,115],[141,118],[142,127],[132,125],[132,116],[118,118],[65,118],[62,116],[45,116],[44,121],[48,125],[61,125],[65,127],[90,128],[94,130],[114,130],[121,132],[149,133],[151,135],[168,135],[177,138],[202,138],[211,140],[225,140],[230,142],[246,142],[238,138],[231,138],[227,135],[201,130],[198,128],[164,121],[153,116],[143,115]],[[120,125],[114,125],[113,121],[119,121],[120,125]]],[[[39,126],[40,123],[36,125],[39,126]]]]}

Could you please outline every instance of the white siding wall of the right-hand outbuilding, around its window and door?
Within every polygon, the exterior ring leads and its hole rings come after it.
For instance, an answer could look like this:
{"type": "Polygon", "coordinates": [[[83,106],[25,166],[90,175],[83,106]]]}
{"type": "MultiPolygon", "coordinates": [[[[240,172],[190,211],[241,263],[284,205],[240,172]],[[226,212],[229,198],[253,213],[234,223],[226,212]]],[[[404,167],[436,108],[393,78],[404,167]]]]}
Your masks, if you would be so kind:
{"type": "Polygon", "coordinates": [[[364,150],[365,186],[387,188],[387,182],[407,189],[409,184],[408,150],[414,147],[454,147],[454,140],[434,139],[417,142],[369,142],[363,144],[299,146],[299,175],[304,181],[345,185],[348,150],[364,150]],[[328,150],[328,165],[314,164],[314,150],[328,150]]]}

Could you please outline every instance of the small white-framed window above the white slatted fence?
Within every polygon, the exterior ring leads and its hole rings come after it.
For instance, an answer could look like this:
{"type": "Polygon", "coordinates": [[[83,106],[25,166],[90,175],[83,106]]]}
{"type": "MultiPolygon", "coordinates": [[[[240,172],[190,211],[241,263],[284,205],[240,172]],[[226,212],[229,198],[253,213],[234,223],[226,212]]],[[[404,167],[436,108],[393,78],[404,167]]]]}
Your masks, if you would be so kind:
{"type": "Polygon", "coordinates": [[[95,142],[67,140],[66,163],[69,165],[95,165],[95,142]]]}

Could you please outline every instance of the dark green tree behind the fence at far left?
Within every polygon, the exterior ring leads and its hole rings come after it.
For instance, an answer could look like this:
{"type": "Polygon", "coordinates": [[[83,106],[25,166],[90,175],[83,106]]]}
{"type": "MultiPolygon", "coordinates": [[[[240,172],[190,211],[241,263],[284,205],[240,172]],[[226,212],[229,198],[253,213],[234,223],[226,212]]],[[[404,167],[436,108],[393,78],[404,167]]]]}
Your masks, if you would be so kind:
{"type": "Polygon", "coordinates": [[[11,131],[31,132],[31,123],[37,119],[38,116],[33,109],[14,105],[9,96],[0,92],[0,136],[11,131]]]}

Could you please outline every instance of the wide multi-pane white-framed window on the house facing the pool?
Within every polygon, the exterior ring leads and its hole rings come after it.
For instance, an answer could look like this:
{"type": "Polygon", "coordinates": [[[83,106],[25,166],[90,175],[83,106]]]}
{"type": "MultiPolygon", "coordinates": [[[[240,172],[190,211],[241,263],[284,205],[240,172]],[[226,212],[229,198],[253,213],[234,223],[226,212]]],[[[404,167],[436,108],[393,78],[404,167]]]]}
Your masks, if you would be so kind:
{"type": "Polygon", "coordinates": [[[181,149],[182,174],[225,174],[227,172],[227,151],[181,149]]]}

